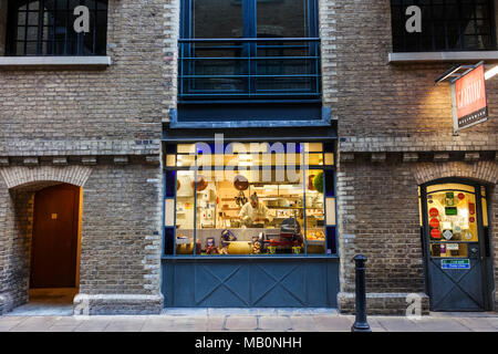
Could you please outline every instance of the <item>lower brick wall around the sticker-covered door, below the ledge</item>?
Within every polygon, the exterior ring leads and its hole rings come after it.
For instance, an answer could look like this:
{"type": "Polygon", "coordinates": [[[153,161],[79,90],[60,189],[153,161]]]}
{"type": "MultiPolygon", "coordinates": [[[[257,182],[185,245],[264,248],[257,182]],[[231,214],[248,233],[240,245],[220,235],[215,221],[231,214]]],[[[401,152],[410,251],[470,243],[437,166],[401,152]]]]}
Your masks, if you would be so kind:
{"type": "Polygon", "coordinates": [[[372,163],[365,156],[356,157],[354,163],[342,163],[338,171],[341,311],[354,311],[355,272],[351,260],[357,253],[369,259],[366,288],[371,313],[404,314],[408,293],[421,294],[424,311],[428,311],[429,302],[424,298],[417,187],[448,176],[470,177],[491,187],[488,205],[495,282],[498,283],[497,192],[494,188],[497,171],[495,162],[402,163],[398,155],[390,155],[383,163],[372,163]]]}

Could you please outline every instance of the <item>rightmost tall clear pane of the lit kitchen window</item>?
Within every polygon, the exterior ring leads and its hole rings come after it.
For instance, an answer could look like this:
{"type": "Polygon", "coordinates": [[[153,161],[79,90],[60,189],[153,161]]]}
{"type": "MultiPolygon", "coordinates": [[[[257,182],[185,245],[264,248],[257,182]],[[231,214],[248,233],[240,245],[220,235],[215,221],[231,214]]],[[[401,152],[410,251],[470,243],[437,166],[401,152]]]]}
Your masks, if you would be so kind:
{"type": "Polygon", "coordinates": [[[314,186],[315,177],[320,174],[323,174],[323,170],[307,170],[308,253],[325,253],[325,212],[323,207],[323,192],[317,190],[317,187],[314,186]]]}

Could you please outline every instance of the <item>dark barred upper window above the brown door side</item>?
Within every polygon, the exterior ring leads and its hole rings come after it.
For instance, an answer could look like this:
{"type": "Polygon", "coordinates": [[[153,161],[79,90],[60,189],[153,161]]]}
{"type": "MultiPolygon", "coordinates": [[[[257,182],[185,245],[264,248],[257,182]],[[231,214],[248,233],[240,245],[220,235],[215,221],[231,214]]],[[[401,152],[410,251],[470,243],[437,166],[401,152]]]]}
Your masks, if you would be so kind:
{"type": "Polygon", "coordinates": [[[7,55],[105,55],[107,0],[9,0],[7,55]],[[74,9],[89,9],[89,31],[76,33],[74,9]]]}

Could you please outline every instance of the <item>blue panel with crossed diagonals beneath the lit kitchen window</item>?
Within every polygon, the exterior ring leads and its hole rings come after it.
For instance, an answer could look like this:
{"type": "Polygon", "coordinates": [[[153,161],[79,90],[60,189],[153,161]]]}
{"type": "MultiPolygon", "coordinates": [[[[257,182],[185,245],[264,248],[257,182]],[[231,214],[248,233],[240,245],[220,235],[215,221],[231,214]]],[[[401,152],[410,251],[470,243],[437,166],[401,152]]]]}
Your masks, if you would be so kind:
{"type": "Polygon", "coordinates": [[[339,259],[165,259],[167,308],[335,308],[339,259]]]}

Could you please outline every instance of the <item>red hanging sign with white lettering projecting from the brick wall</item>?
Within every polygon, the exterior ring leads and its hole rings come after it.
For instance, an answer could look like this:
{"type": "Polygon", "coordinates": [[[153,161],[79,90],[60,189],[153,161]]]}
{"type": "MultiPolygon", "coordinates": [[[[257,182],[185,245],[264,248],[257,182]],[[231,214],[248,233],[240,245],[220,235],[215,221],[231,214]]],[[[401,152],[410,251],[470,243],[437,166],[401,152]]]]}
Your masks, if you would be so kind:
{"type": "Polygon", "coordinates": [[[455,82],[457,129],[484,122],[488,118],[484,65],[455,82]]]}

